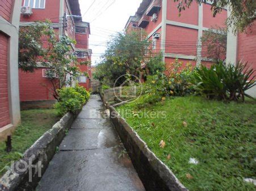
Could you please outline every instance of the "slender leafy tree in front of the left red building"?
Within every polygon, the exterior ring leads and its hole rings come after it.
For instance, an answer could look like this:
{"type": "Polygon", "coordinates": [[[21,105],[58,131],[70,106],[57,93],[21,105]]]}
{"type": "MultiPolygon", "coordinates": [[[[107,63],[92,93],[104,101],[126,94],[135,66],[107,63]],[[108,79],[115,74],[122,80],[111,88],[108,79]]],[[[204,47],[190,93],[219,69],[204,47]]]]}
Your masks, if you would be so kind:
{"type": "Polygon", "coordinates": [[[69,37],[58,38],[49,21],[21,27],[19,68],[33,72],[38,62],[47,68],[46,74],[52,84],[53,96],[58,99],[58,89],[76,81],[81,74],[78,64],[85,64],[77,62],[77,58],[72,54],[72,44],[75,44],[75,40],[69,37]]]}

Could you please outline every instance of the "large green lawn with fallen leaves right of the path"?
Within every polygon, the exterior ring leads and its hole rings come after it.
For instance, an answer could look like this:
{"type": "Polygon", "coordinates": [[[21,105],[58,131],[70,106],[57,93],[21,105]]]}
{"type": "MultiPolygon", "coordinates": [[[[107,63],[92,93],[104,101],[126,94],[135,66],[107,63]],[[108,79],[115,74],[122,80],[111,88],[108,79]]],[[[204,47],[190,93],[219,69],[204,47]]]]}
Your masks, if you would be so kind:
{"type": "Polygon", "coordinates": [[[254,101],[224,103],[189,96],[141,109],[137,102],[117,111],[132,114],[127,115],[128,123],[188,189],[255,190],[243,181],[256,178],[254,101]],[[166,118],[140,118],[141,111],[165,111],[166,118]],[[188,163],[190,158],[199,163],[188,163]]]}

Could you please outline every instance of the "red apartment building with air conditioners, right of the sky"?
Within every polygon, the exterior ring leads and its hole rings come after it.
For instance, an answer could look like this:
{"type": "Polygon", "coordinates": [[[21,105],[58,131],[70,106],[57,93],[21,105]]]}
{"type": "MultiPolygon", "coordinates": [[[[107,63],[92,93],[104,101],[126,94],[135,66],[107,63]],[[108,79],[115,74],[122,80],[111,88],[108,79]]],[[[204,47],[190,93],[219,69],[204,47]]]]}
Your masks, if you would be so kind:
{"type": "Polygon", "coordinates": [[[125,25],[126,31],[138,28],[145,29],[148,39],[152,41],[153,53],[163,54],[166,67],[178,58],[184,64],[212,63],[207,59],[207,49],[202,48],[200,41],[204,31],[216,25],[224,27],[227,18],[226,10],[212,16],[211,5],[196,2],[181,12],[178,2],[173,0],[143,0],[135,16],[131,16],[125,25]]]}

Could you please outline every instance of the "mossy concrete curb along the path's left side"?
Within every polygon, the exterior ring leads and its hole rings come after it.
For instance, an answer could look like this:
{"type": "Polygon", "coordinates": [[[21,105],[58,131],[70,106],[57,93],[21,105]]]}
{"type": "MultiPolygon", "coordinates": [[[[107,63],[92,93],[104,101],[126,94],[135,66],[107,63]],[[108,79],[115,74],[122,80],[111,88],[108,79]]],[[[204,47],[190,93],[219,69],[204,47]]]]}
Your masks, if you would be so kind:
{"type": "Polygon", "coordinates": [[[39,183],[41,176],[48,167],[49,162],[53,158],[56,147],[61,144],[65,137],[66,129],[69,129],[74,119],[79,114],[68,112],[60,121],[53,125],[49,131],[45,132],[28,150],[25,151],[22,159],[14,162],[14,172],[7,171],[0,179],[0,190],[33,190],[39,183]],[[32,157],[33,156],[33,157],[32,157]],[[41,168],[41,176],[39,176],[39,164],[43,164],[41,168]],[[24,165],[32,163],[32,181],[29,181],[29,168],[24,165]],[[23,172],[16,171],[16,167],[23,172]]]}

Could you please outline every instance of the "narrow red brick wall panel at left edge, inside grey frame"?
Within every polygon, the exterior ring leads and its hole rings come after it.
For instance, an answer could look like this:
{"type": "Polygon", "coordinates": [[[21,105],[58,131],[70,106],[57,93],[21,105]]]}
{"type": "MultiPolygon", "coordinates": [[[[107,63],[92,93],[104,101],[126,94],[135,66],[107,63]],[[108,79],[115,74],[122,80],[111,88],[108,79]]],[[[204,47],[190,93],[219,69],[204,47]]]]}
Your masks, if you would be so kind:
{"type": "Polygon", "coordinates": [[[7,71],[8,37],[0,33],[0,128],[10,124],[7,71]]]}

